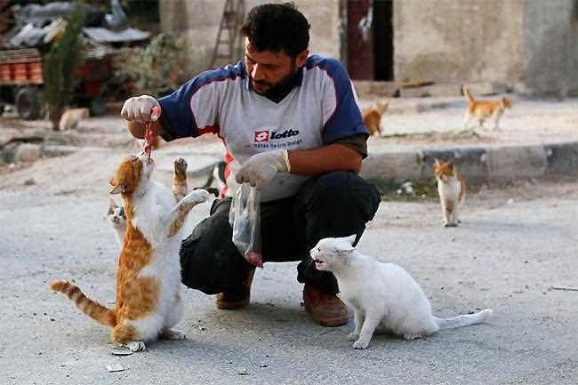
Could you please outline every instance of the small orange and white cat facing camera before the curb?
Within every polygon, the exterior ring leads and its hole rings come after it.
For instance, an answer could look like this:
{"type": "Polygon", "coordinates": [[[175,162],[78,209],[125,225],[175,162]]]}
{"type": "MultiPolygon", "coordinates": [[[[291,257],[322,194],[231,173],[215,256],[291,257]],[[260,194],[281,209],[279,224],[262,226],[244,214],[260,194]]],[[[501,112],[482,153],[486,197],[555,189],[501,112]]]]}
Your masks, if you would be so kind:
{"type": "Polygon", "coordinates": [[[440,162],[436,159],[434,172],[438,181],[438,195],[442,205],[444,227],[454,228],[460,223],[458,206],[466,198],[466,180],[455,170],[453,162],[440,162]]]}

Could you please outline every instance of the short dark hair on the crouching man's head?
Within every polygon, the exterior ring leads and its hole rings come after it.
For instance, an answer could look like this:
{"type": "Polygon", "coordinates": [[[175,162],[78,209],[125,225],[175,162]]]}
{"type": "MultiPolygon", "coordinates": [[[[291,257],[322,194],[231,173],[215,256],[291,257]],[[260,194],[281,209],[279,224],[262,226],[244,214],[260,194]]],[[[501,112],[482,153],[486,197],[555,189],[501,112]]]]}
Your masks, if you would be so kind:
{"type": "Polygon", "coordinates": [[[284,51],[295,58],[309,46],[309,28],[295,4],[263,4],[249,11],[241,33],[259,52],[284,51]]]}

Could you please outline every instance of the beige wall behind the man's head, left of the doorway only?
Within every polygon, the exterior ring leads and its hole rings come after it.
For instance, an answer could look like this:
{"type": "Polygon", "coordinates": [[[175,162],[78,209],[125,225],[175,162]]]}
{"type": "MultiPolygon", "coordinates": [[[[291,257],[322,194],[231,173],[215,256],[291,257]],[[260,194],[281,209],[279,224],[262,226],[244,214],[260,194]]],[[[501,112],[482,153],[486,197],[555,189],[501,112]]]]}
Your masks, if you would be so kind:
{"type": "MultiPolygon", "coordinates": [[[[245,12],[264,3],[282,1],[246,0],[245,12]]],[[[339,0],[296,0],[294,3],[311,24],[311,52],[339,58],[339,0]]],[[[161,0],[161,29],[185,37],[191,74],[208,68],[211,63],[224,4],[225,0],[161,0]]]]}

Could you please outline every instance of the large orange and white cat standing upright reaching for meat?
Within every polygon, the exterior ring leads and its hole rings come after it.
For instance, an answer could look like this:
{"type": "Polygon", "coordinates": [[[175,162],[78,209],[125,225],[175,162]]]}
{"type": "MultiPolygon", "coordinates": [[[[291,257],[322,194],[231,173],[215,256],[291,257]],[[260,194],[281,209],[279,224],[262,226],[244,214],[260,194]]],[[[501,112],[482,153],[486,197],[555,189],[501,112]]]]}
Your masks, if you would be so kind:
{"type": "Polygon", "coordinates": [[[85,315],[112,327],[112,341],[132,351],[144,350],[144,341],[186,338],[172,330],[183,314],[179,230],[189,211],[209,197],[197,189],[177,203],[168,188],[150,180],[153,169],[149,156],[130,156],[110,180],[111,194],[123,198],[127,223],[116,270],[114,309],[92,301],[69,281],[50,285],[75,301],[85,315]]]}

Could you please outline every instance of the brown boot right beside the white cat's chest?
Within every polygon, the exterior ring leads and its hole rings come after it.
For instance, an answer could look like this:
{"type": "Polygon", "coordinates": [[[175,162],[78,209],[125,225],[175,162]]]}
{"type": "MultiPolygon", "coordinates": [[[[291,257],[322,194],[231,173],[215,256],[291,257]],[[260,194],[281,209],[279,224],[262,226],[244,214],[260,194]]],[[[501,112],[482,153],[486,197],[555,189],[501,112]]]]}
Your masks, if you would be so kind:
{"type": "Polygon", "coordinates": [[[319,325],[333,327],[348,323],[347,308],[335,294],[324,293],[314,285],[305,284],[303,302],[305,310],[319,325]]]}

